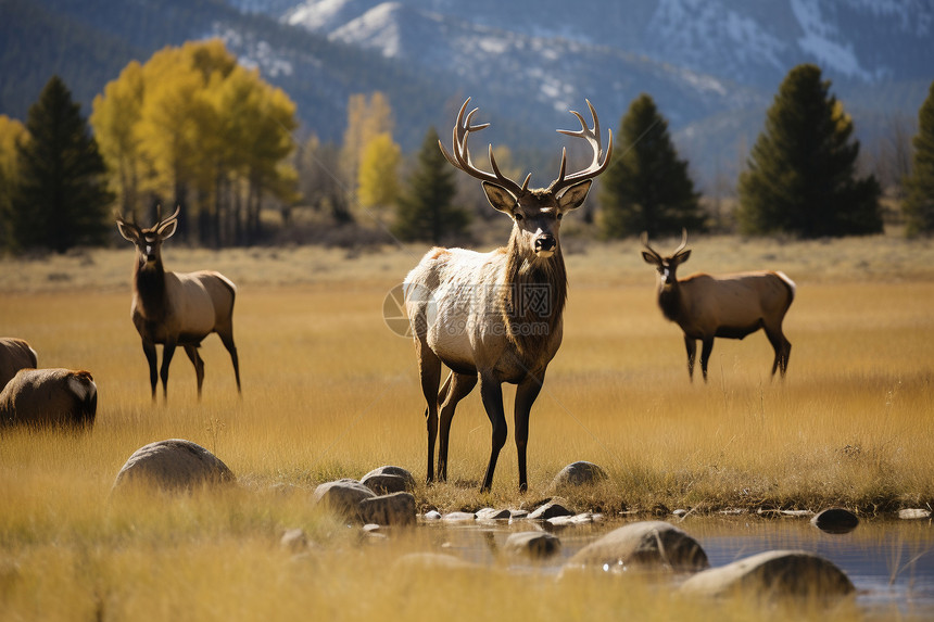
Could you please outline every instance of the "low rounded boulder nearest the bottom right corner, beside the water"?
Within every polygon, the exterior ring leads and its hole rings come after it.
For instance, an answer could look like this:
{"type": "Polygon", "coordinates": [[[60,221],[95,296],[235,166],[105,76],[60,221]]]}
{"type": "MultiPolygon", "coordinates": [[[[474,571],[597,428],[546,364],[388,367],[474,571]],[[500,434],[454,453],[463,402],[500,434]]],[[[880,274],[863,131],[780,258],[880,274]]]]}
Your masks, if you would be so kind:
{"type": "Polygon", "coordinates": [[[838,597],[855,591],[833,562],[804,550],[769,550],[691,576],[684,594],[756,597],[838,597]]]}

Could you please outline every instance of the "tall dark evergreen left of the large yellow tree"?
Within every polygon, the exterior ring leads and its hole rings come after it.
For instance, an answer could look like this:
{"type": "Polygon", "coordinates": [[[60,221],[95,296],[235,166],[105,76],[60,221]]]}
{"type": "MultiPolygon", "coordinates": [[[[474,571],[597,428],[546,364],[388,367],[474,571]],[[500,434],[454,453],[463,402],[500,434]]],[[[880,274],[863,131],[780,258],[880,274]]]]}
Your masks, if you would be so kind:
{"type": "Polygon", "coordinates": [[[13,234],[21,249],[64,252],[102,244],[110,232],[106,167],[80,105],[53,76],[26,120],[29,139],[17,145],[13,234]]]}

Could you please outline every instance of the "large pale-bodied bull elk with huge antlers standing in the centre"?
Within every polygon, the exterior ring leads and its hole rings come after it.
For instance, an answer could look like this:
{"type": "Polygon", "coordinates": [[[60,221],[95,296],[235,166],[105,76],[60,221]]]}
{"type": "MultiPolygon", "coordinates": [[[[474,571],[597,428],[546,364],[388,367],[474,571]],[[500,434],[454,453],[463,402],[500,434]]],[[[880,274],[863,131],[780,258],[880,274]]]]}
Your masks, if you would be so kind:
{"type": "Polygon", "coordinates": [[[526,445],[529,412],[542,389],[548,363],[561,343],[561,315],[567,294],[567,275],[558,230],[564,215],[586,199],[593,178],[603,173],[613,150],[613,134],[604,156],[599,122],[588,102],[594,127],[571,111],[581,124],[579,131],[558,130],[583,138],[593,150],[593,161],[583,170],[566,174],[566,152],[560,172],[547,188],[530,189],[505,177],[489,148],[493,173],[477,168],[467,149],[470,132],[489,124],[471,125],[477,109],[466,115],[468,99],[454,127],[453,155],[439,141],[447,161],[481,180],[494,210],[513,219],[509,243],[490,253],[436,247],[429,251],[405,279],[405,306],[418,358],[421,391],[428,402],[428,482],[434,480],[434,443],[439,431],[437,477],[447,479],[447,439],[457,403],[479,379],[483,407],[493,427],[492,448],[481,491],[489,491],[500,449],[506,443],[506,418],[501,384],[516,384],[515,424],[519,461],[519,490],[528,487],[526,445]],[[601,162],[602,160],[602,162],[601,162]],[[451,373],[441,391],[441,365],[451,373]]]}

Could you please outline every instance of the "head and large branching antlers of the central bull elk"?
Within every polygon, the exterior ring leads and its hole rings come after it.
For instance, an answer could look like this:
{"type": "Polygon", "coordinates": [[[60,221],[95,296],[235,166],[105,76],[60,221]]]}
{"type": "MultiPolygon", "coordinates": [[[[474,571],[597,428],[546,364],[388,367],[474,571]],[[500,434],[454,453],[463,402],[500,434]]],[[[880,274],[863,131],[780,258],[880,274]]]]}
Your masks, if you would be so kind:
{"type": "Polygon", "coordinates": [[[487,200],[493,208],[513,218],[513,241],[517,242],[520,252],[529,258],[550,258],[558,251],[558,230],[561,218],[567,212],[581,206],[593,183],[593,178],[606,170],[609,165],[613,131],[609,132],[609,142],[604,155],[601,147],[599,120],[593,105],[590,101],[586,102],[593,117],[593,128],[588,127],[580,113],[571,111],[571,114],[580,120],[581,129],[578,131],[559,129],[558,131],[586,140],[593,149],[593,161],[585,169],[567,174],[567,150],[563,150],[561,167],[557,179],[547,188],[530,189],[531,173],[526,176],[526,180],[520,186],[500,172],[496,158],[493,156],[492,144],[489,145],[488,153],[493,173],[481,170],[474,165],[467,148],[467,138],[471,131],[480,131],[490,124],[470,125],[470,119],[479,109],[475,107],[466,113],[469,103],[470,98],[467,98],[460,106],[457,123],[454,126],[454,154],[447,153],[440,140],[438,145],[447,162],[482,182],[487,200]]]}

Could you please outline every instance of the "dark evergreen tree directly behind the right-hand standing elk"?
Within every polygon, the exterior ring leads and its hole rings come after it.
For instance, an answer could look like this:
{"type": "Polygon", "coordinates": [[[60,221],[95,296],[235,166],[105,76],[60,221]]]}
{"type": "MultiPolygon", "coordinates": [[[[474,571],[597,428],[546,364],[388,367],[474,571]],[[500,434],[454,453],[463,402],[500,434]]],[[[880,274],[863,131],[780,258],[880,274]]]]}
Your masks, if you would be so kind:
{"type": "Polygon", "coordinates": [[[645,93],[632,101],[617,139],[626,145],[601,179],[601,228],[607,238],[648,231],[679,233],[702,229],[699,194],[687,175],[687,162],[668,134],[668,122],[645,93]]]}

